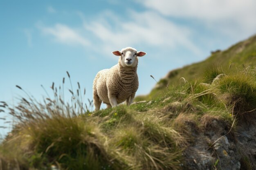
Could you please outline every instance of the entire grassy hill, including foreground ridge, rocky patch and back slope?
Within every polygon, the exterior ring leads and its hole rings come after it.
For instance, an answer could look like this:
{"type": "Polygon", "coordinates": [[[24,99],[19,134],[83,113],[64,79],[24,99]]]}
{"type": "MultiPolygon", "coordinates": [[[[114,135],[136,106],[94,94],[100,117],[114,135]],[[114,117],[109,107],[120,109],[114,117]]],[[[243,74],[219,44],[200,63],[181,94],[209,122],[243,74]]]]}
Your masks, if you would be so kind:
{"type": "Polygon", "coordinates": [[[252,37],[171,71],[129,107],[90,112],[80,86],[67,103],[54,84],[42,103],[1,102],[17,123],[0,170],[253,170],[255,57],[252,37]]]}

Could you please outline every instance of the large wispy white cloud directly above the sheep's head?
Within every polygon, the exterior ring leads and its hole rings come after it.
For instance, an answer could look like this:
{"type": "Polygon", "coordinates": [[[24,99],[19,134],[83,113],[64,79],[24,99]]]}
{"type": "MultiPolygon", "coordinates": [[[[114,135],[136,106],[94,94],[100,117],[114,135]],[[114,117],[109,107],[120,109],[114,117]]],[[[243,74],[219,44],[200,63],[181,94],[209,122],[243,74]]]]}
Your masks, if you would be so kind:
{"type": "Polygon", "coordinates": [[[184,46],[194,53],[199,49],[189,39],[191,31],[155,12],[128,11],[130,18],[118,18],[114,13],[103,13],[96,20],[85,22],[84,27],[104,44],[103,50],[121,49],[144,44],[156,48],[184,46]]]}

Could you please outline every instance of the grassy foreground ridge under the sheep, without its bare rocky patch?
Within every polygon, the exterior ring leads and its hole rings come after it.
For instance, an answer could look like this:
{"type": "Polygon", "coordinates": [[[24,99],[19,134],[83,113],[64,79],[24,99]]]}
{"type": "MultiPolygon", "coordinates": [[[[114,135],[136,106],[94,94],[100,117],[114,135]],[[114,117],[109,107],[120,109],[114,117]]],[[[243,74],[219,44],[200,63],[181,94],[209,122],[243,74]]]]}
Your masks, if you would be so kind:
{"type": "MultiPolygon", "coordinates": [[[[54,98],[43,103],[29,96],[15,108],[2,102],[17,124],[0,144],[0,166],[3,170],[187,169],[184,150],[195,143],[195,133],[212,127],[213,120],[225,122],[228,133],[234,133],[235,123],[252,121],[256,108],[254,69],[229,64],[198,69],[202,74],[197,81],[182,76],[179,83],[156,88],[137,98],[146,102],[129,107],[90,112],[83,106],[80,86],[77,94],[70,90],[72,100],[65,103],[54,84],[54,98]]],[[[214,150],[213,144],[209,141],[209,150],[214,150]]],[[[212,168],[218,168],[218,155],[214,159],[212,168]]]]}

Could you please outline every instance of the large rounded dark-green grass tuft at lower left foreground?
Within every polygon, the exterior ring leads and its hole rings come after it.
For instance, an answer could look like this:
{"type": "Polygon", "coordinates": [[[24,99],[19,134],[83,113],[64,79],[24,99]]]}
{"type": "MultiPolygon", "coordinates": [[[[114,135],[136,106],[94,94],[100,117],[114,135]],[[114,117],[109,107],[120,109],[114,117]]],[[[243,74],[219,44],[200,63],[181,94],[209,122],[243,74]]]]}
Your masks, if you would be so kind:
{"type": "MultiPolygon", "coordinates": [[[[62,168],[92,169],[108,162],[103,148],[103,136],[96,125],[77,118],[53,117],[36,124],[27,124],[20,132],[29,136],[34,155],[44,158],[31,160],[35,168],[58,162],[62,168]]],[[[33,156],[34,156],[33,155],[33,156]]],[[[29,157],[31,159],[31,157],[29,157]]]]}

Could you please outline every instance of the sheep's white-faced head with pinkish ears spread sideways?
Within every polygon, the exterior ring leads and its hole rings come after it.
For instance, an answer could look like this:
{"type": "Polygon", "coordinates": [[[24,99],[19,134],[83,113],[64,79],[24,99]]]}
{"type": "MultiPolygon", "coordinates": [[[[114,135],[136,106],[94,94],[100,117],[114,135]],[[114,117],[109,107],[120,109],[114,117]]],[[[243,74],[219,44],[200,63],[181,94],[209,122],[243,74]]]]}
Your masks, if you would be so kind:
{"type": "Polygon", "coordinates": [[[142,57],[146,55],[145,52],[139,51],[137,52],[136,49],[133,49],[131,47],[126,47],[125,49],[122,49],[121,51],[113,51],[112,52],[114,55],[120,56],[121,57],[121,65],[123,67],[125,66],[131,66],[135,67],[137,66],[137,57],[142,57]]]}

